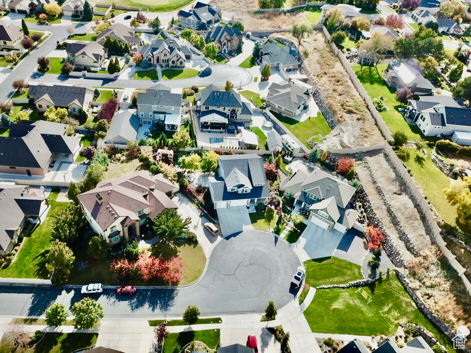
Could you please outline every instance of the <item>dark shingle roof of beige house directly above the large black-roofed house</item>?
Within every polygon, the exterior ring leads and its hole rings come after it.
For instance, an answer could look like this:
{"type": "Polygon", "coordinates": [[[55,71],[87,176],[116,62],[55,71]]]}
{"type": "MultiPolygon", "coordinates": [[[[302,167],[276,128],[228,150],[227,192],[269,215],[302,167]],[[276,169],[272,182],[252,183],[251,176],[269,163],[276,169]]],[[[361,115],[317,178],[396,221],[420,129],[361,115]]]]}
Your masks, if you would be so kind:
{"type": "Polygon", "coordinates": [[[38,101],[44,95],[48,95],[52,103],[58,107],[67,107],[70,103],[77,100],[83,106],[87,88],[78,86],[62,86],[62,85],[31,85],[29,88],[28,98],[38,101]]]}

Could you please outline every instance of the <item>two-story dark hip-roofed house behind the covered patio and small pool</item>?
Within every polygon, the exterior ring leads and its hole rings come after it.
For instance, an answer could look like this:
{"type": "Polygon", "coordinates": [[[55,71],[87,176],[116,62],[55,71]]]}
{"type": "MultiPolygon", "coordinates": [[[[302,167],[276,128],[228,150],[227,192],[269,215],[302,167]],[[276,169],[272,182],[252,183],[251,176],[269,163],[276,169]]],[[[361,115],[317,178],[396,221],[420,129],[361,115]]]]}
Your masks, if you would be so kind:
{"type": "Polygon", "coordinates": [[[252,108],[249,103],[242,101],[240,93],[235,90],[221,91],[213,84],[201,91],[200,109],[203,116],[209,111],[226,114],[228,123],[252,121],[252,108]]]}

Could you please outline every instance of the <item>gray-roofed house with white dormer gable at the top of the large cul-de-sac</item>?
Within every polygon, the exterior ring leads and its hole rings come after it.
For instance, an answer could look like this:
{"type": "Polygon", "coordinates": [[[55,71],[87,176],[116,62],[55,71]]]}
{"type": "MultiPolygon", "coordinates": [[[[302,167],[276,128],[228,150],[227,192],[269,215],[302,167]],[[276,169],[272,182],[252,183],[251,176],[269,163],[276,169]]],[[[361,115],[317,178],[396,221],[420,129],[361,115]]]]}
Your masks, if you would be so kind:
{"type": "Polygon", "coordinates": [[[255,154],[219,156],[216,176],[209,177],[209,193],[214,208],[266,204],[268,183],[263,158],[255,154]]]}

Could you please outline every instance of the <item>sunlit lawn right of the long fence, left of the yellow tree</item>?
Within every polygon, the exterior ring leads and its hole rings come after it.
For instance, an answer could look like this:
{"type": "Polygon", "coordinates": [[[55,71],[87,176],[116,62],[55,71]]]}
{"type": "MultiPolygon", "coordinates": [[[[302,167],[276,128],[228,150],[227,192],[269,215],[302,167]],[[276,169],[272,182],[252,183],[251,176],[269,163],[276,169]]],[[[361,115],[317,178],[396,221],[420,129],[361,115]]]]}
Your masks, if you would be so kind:
{"type": "Polygon", "coordinates": [[[455,225],[456,206],[452,206],[446,201],[443,192],[443,189],[449,187],[450,180],[432,162],[430,149],[427,149],[427,157],[422,165],[414,160],[418,151],[412,148],[409,151],[411,158],[404,164],[411,170],[412,177],[419,183],[428,201],[435,206],[438,213],[448,223],[455,225]]]}

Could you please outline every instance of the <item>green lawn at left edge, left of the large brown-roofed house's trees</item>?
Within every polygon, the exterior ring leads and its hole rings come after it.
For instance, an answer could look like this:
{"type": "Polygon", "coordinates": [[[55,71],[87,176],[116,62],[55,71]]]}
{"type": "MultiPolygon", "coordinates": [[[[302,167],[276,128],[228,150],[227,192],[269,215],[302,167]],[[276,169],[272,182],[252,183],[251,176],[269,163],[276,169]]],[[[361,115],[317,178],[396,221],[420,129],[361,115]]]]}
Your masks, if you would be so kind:
{"type": "Polygon", "coordinates": [[[52,217],[51,213],[65,207],[67,202],[56,202],[57,192],[52,192],[48,198],[51,209],[48,217],[31,235],[26,236],[16,260],[8,267],[2,267],[0,277],[43,278],[49,277],[44,265],[45,256],[51,243],[52,217]]]}

